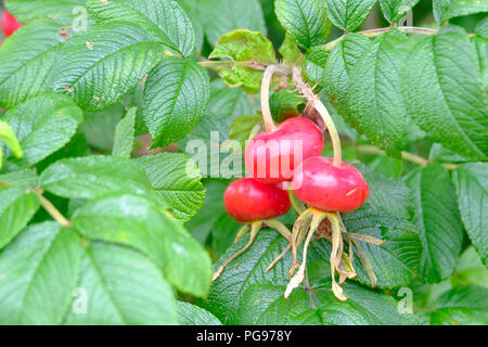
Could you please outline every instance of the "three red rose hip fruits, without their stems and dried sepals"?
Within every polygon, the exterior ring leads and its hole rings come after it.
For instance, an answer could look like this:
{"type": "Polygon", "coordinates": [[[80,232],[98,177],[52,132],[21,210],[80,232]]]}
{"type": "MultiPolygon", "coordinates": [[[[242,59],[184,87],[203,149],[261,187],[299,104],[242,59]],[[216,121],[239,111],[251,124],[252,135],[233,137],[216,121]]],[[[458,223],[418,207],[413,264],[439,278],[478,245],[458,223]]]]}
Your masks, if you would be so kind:
{"type": "Polygon", "coordinates": [[[347,213],[359,208],[369,196],[362,175],[354,166],[322,157],[323,137],[319,127],[303,117],[290,118],[272,132],[262,131],[253,138],[245,150],[245,165],[251,178],[231,183],[223,202],[228,214],[240,222],[253,222],[280,217],[292,204],[288,193],[279,183],[293,181],[296,196],[310,207],[325,213],[347,213]],[[267,144],[278,143],[278,151],[267,144]],[[301,141],[301,163],[294,167],[296,153],[290,143],[301,141]],[[286,145],[284,145],[286,143],[286,145]],[[280,165],[273,166],[272,163],[280,165]],[[281,163],[290,163],[294,175],[286,178],[281,163]],[[261,166],[266,171],[258,172],[261,166]],[[278,175],[271,175],[277,167],[278,175]],[[261,175],[258,175],[261,174],[261,175]]]}

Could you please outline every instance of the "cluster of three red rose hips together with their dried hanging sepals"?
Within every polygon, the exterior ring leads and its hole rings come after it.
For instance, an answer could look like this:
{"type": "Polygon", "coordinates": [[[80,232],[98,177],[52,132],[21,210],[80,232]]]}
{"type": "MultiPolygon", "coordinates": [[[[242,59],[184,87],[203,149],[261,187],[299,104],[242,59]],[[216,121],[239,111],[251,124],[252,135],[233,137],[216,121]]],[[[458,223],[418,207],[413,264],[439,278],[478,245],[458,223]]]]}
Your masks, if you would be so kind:
{"type": "MultiPolygon", "coordinates": [[[[235,242],[249,229],[251,237],[241,250],[220,266],[214,274],[214,280],[230,261],[252,245],[257,232],[265,224],[275,229],[288,241],[287,247],[270,264],[267,271],[292,248],[293,265],[290,270],[292,279],[284,294],[287,298],[304,281],[311,236],[322,220],[328,218],[331,222],[331,233],[326,237],[332,243],[332,288],[336,297],[345,300],[346,297],[338,284],[344,283],[346,279],[354,279],[356,271],[352,268],[352,249],[349,249],[349,257],[343,253],[343,235],[352,239],[356,235],[345,230],[339,213],[359,208],[369,196],[368,184],[358,169],[342,162],[341,144],[333,123],[329,124],[334,127],[334,134],[331,134],[334,159],[320,156],[324,144],[323,136],[319,127],[308,118],[290,118],[278,127],[272,120],[269,121],[269,115],[264,115],[264,118],[265,123],[268,119],[267,130],[254,137],[245,149],[244,162],[249,177],[229,184],[223,196],[228,214],[244,223],[237,232],[235,242]],[[296,143],[299,145],[294,145],[296,143]],[[309,207],[297,208],[295,206],[297,204],[294,204],[299,216],[292,233],[274,218],[290,210],[291,198],[295,200],[295,196],[309,207]],[[303,261],[298,266],[297,248],[303,242],[305,242],[303,261]],[[296,269],[298,271],[295,273],[296,269]],[[339,274],[338,284],[334,278],[335,271],[339,274]]],[[[384,241],[370,237],[367,242],[382,245],[384,241]]],[[[350,244],[349,242],[349,247],[350,244]]]]}

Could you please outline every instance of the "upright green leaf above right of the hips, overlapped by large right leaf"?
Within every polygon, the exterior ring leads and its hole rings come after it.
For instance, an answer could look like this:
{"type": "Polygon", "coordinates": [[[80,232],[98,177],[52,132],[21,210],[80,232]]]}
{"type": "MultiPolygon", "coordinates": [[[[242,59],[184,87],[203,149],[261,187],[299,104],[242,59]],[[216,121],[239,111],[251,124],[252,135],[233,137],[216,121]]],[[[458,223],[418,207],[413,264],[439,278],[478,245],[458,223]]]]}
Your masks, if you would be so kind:
{"type": "Polygon", "coordinates": [[[407,37],[385,33],[359,57],[349,78],[355,128],[396,157],[403,149],[408,120],[400,75],[407,57],[407,37]]]}

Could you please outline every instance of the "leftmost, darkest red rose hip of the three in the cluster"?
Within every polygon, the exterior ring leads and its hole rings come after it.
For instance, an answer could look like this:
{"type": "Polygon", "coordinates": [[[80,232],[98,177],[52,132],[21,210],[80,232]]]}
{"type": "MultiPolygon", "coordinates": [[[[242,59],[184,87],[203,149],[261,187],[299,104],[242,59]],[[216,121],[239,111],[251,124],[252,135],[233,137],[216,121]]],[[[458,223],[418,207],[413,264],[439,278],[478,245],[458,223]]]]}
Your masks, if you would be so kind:
{"type": "Polygon", "coordinates": [[[292,207],[286,191],[252,178],[241,178],[229,184],[223,194],[223,205],[239,222],[275,218],[292,207]]]}

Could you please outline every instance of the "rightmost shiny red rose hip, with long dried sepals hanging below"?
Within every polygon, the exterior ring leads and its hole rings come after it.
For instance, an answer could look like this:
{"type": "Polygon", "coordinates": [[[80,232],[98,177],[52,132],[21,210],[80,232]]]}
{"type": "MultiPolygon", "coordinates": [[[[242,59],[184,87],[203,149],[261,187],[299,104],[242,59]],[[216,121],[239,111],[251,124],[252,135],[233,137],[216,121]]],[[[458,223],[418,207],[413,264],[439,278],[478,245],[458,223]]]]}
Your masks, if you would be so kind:
{"type": "Polygon", "coordinates": [[[295,195],[313,208],[333,213],[358,209],[370,195],[370,189],[361,172],[342,163],[332,165],[332,158],[316,156],[304,160],[295,170],[295,195]]]}

